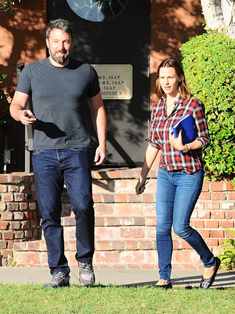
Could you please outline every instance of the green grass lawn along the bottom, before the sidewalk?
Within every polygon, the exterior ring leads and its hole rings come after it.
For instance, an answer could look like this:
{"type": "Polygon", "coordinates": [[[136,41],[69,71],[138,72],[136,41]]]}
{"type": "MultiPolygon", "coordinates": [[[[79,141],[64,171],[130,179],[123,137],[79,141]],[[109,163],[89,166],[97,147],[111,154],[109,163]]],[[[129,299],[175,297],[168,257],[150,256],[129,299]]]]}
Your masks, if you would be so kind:
{"type": "Polygon", "coordinates": [[[43,289],[38,284],[0,284],[0,314],[234,314],[235,288],[102,286],[43,289]]]}

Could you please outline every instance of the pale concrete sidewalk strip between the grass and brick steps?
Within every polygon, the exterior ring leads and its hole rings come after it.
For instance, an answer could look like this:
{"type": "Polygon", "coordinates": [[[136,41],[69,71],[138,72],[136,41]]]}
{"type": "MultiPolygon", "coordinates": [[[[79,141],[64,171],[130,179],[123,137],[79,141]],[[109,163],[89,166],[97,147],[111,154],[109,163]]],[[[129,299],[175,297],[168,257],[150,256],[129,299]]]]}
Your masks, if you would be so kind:
{"type": "MultiPolygon", "coordinates": [[[[159,279],[157,269],[104,269],[94,268],[96,284],[103,285],[154,285],[159,279]]],[[[173,270],[172,285],[199,287],[202,270],[173,270]]],[[[79,284],[79,268],[71,268],[70,283],[79,284]]],[[[51,278],[49,268],[44,267],[0,267],[0,283],[44,284],[51,278]]],[[[214,288],[235,287],[235,271],[218,271],[214,288]]]]}

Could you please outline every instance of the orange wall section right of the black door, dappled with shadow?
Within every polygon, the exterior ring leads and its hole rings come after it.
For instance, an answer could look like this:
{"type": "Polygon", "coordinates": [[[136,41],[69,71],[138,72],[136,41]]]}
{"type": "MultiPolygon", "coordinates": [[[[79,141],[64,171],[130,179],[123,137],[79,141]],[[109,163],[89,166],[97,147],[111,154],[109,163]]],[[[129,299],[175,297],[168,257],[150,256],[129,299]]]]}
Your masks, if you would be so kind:
{"type": "MultiPolygon", "coordinates": [[[[180,58],[179,48],[204,32],[200,0],[151,1],[151,94],[157,67],[167,57],[180,58]]],[[[152,102],[157,99],[154,98],[152,102]]]]}

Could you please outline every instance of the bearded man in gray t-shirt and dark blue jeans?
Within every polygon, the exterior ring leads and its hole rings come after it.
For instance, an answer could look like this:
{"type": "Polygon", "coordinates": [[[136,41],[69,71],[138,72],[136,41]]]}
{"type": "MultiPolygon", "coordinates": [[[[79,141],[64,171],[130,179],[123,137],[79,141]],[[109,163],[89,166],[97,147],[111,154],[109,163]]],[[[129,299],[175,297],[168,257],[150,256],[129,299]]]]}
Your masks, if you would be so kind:
{"type": "Polygon", "coordinates": [[[80,283],[89,286],[94,284],[95,276],[87,100],[99,141],[95,165],[102,165],[106,158],[106,115],[96,71],[89,64],[69,57],[74,44],[72,24],[63,19],[50,21],[46,43],[50,56],[23,69],[10,112],[15,120],[25,125],[35,123],[34,181],[48,249],[48,265],[53,276],[43,288],[69,286],[70,268],[64,256],[60,220],[64,183],[76,219],[80,283]],[[30,97],[34,113],[26,110],[30,97]]]}

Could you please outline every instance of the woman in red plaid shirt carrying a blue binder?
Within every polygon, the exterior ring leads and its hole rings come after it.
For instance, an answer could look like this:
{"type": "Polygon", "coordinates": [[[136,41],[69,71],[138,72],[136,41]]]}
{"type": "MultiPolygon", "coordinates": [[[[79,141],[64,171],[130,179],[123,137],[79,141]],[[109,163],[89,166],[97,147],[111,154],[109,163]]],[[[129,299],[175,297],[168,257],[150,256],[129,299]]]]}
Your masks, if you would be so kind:
{"type": "Polygon", "coordinates": [[[190,93],[182,65],[174,58],[165,59],[159,65],[154,91],[160,100],[153,106],[151,134],[147,138],[148,147],[136,185],[136,194],[144,192],[148,172],[161,150],[156,192],[156,240],[160,279],[156,286],[172,288],[173,225],[174,232],[194,248],[204,263],[200,287],[208,289],[215,280],[221,262],[210,252],[200,234],[190,226],[190,217],[203,185],[201,151],[210,144],[205,107],[190,93]],[[172,127],[187,113],[193,116],[198,137],[183,145],[181,131],[175,138],[172,127]],[[183,153],[179,154],[178,150],[183,153]]]}

